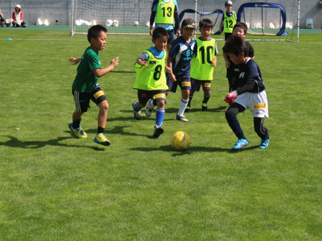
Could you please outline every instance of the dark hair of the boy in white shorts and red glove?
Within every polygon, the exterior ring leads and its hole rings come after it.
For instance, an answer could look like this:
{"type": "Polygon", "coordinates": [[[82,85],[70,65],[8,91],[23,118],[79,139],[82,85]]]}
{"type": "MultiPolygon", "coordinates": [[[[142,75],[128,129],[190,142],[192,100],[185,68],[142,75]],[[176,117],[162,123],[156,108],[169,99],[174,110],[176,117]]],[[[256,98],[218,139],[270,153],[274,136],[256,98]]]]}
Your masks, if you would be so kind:
{"type": "Polygon", "coordinates": [[[249,55],[249,45],[244,38],[239,36],[230,36],[224,46],[225,53],[238,56],[240,53],[244,53],[245,57],[249,55]]]}

